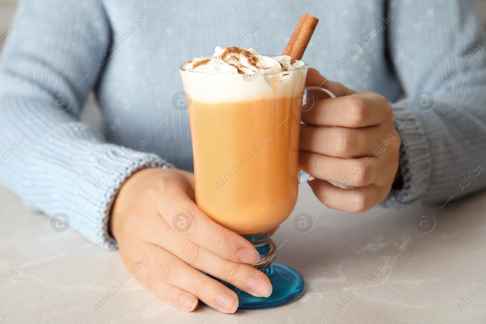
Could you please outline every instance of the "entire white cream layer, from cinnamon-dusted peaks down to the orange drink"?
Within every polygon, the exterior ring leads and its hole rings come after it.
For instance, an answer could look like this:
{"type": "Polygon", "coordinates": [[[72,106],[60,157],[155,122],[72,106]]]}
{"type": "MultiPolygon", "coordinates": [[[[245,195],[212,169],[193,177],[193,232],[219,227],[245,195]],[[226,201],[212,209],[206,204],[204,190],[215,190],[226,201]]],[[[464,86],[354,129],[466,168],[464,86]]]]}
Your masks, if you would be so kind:
{"type": "Polygon", "coordinates": [[[216,47],[213,56],[184,63],[180,74],[192,101],[245,102],[301,95],[307,75],[307,68],[301,67],[305,65],[304,61],[290,64],[288,55],[271,57],[254,49],[216,47]]]}

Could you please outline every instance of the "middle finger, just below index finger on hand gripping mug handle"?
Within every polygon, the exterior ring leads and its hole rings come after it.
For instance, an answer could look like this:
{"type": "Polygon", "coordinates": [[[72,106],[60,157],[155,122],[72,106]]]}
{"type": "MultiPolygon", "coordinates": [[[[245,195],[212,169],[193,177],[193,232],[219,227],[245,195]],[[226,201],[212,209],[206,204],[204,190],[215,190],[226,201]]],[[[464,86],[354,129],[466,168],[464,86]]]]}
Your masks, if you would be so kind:
{"type": "Polygon", "coordinates": [[[346,128],[302,124],[299,148],[335,157],[359,157],[383,149],[389,139],[384,137],[382,140],[381,137],[383,130],[380,126],[346,128]]]}

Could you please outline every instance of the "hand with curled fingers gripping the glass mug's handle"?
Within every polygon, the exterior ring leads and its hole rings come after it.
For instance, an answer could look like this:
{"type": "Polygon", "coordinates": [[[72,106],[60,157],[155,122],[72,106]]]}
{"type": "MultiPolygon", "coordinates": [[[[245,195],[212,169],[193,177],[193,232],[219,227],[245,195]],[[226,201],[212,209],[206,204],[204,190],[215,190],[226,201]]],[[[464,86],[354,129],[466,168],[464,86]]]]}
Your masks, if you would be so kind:
{"type": "Polygon", "coordinates": [[[312,108],[302,109],[306,124],[300,129],[299,163],[316,178],[309,185],[330,208],[351,213],[370,209],[386,198],[399,166],[400,137],[392,107],[383,96],[350,90],[314,68],[309,69],[306,86],[321,86],[337,96],[331,99],[310,90],[314,100],[307,104],[312,108]]]}

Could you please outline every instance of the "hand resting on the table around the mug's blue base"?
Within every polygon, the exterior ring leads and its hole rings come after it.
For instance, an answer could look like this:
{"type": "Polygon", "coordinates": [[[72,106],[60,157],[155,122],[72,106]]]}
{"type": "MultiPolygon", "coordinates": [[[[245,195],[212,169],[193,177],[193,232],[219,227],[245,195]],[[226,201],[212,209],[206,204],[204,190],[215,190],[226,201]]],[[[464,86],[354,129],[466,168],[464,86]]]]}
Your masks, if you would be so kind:
{"type": "Polygon", "coordinates": [[[249,265],[260,259],[253,245],[211,221],[194,201],[190,172],[149,168],[125,182],[113,205],[110,230],[127,269],[148,256],[138,280],[185,311],[194,310],[198,298],[224,313],[238,307],[233,290],[201,271],[254,296],[268,297],[268,277],[249,265]],[[189,215],[190,227],[187,216],[176,216],[179,213],[189,215]]]}

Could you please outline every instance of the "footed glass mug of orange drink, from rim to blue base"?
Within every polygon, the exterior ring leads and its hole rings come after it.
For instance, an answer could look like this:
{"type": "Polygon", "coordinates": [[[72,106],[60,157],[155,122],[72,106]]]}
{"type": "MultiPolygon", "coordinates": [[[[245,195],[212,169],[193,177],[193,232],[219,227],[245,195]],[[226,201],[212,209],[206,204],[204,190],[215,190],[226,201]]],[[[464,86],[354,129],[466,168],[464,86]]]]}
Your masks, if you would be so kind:
{"type": "MultiPolygon", "coordinates": [[[[304,62],[292,70],[245,75],[180,68],[197,205],[253,243],[260,253],[253,266],[273,287],[268,298],[258,298],[222,281],[238,295],[239,309],[282,305],[305,291],[300,273],[273,262],[277,249],[269,230],[291,214],[299,177],[306,180],[299,175],[298,152],[307,68],[304,62]]],[[[242,278],[240,286],[249,280],[251,276],[242,278]]]]}

